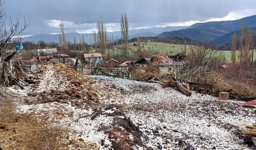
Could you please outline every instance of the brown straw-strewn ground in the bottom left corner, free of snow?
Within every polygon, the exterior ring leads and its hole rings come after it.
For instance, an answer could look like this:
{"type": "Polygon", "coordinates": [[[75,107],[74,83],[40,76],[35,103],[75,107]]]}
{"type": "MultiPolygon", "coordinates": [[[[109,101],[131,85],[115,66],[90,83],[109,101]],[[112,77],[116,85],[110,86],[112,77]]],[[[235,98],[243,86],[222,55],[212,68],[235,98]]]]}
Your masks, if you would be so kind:
{"type": "MultiPolygon", "coordinates": [[[[68,136],[68,130],[51,126],[47,115],[19,114],[10,103],[0,114],[1,150],[98,150],[99,146],[68,136]],[[40,122],[38,120],[41,120],[40,122]]],[[[46,113],[46,112],[44,112],[46,113]]],[[[59,112],[56,112],[59,114],[59,112]]],[[[57,117],[59,115],[53,115],[57,117]]],[[[75,134],[75,133],[74,133],[75,134]]]]}

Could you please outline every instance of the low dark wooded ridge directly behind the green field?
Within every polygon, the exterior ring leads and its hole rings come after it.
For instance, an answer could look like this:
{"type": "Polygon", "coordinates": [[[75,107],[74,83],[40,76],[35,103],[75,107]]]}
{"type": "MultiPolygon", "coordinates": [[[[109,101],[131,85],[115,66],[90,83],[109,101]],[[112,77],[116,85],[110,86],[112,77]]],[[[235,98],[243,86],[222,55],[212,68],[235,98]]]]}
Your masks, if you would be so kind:
{"type": "MultiPolygon", "coordinates": [[[[200,43],[199,41],[192,40],[191,38],[186,37],[168,37],[168,38],[156,38],[156,37],[141,37],[141,42],[164,42],[164,43],[172,43],[172,44],[184,44],[186,40],[188,45],[196,45],[200,43]]],[[[132,38],[129,42],[137,42],[137,38],[132,38]]]]}

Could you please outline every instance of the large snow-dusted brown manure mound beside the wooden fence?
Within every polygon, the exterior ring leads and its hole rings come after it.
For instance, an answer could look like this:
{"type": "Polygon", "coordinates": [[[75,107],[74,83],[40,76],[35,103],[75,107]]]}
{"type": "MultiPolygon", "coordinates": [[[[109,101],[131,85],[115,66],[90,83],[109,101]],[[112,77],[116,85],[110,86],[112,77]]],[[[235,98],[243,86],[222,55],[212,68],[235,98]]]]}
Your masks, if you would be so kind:
{"type": "Polygon", "coordinates": [[[98,100],[94,80],[78,74],[59,62],[47,62],[24,81],[34,84],[28,90],[28,96],[38,96],[28,103],[69,102],[74,99],[98,100]]]}

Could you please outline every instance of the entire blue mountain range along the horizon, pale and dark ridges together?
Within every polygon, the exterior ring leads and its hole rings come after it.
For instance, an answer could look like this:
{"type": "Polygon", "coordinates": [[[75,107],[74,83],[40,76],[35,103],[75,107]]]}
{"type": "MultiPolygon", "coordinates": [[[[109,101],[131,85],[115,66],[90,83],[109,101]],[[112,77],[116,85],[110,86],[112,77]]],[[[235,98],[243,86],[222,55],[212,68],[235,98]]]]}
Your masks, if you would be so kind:
{"type": "MultiPolygon", "coordinates": [[[[129,39],[136,38],[139,35],[141,37],[156,38],[186,37],[198,42],[211,41],[213,44],[217,45],[219,49],[229,50],[234,32],[239,38],[241,24],[244,24],[244,32],[246,32],[246,27],[250,26],[253,31],[253,37],[256,38],[256,15],[253,15],[238,20],[196,23],[191,26],[166,26],[147,29],[134,29],[129,30],[129,39]]],[[[108,36],[113,34],[114,40],[116,40],[116,36],[118,36],[118,39],[121,37],[120,31],[107,32],[107,34],[108,36]]],[[[81,37],[80,33],[66,33],[66,38],[70,42],[73,42],[74,36],[79,43],[81,37]]],[[[90,36],[92,36],[91,33],[84,33],[86,43],[90,43],[90,36]]],[[[39,40],[44,40],[45,42],[59,42],[58,34],[38,34],[28,36],[25,38],[25,40],[34,40],[35,42],[38,42],[39,40]]],[[[170,40],[170,38],[168,40],[170,40]]],[[[173,41],[173,39],[171,40],[173,41]]],[[[254,40],[254,46],[256,46],[256,40],[254,40]]]]}

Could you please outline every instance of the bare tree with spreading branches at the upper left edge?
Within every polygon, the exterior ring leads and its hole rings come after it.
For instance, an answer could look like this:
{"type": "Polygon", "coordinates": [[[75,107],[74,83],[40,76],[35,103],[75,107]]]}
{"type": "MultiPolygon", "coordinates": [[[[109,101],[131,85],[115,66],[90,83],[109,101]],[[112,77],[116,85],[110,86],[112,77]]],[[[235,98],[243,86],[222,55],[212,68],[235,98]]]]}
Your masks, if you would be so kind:
{"type": "Polygon", "coordinates": [[[24,25],[20,26],[19,15],[14,22],[12,18],[10,18],[8,22],[6,19],[7,13],[3,8],[3,4],[4,2],[0,0],[0,54],[12,49],[20,43],[24,38],[22,32],[29,25],[29,22],[26,23],[26,18],[24,17],[24,25]]]}

